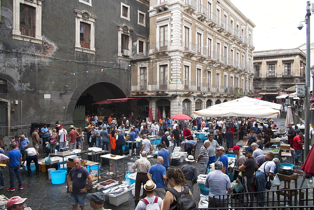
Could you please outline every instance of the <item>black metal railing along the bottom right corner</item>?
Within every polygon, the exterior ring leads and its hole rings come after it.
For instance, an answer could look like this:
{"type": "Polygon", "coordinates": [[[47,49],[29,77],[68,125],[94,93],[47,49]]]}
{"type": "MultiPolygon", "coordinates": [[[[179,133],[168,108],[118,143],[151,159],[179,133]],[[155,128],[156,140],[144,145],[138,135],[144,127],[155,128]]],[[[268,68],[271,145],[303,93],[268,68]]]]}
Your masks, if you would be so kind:
{"type": "MultiPolygon", "coordinates": [[[[216,205],[219,205],[220,209],[265,209],[265,207],[259,207],[262,204],[259,199],[259,194],[264,193],[264,204],[267,205],[266,209],[313,209],[314,199],[313,188],[300,188],[300,189],[282,189],[273,191],[254,192],[257,193],[257,199],[254,198],[254,193],[238,193],[231,194],[225,198],[226,195],[214,196],[216,199],[216,205]],[[251,196],[251,201],[248,203],[246,198],[251,196]],[[225,199],[224,199],[225,198],[225,199]],[[247,207],[245,207],[247,206],[247,207]]],[[[216,208],[198,208],[198,209],[217,209],[216,208]]]]}

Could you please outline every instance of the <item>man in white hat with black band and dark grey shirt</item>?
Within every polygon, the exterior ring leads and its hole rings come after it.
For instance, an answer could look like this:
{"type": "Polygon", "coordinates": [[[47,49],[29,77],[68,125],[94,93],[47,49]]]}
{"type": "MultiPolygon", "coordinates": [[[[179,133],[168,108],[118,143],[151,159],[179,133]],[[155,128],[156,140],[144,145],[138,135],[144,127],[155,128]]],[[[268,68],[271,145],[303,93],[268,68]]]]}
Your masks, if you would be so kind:
{"type": "Polygon", "coordinates": [[[193,194],[193,185],[196,183],[197,180],[196,167],[193,166],[193,162],[195,160],[192,155],[189,155],[187,158],[185,158],[185,160],[187,161],[187,164],[181,167],[181,171],[184,174],[187,186],[189,187],[190,191],[193,194]]]}

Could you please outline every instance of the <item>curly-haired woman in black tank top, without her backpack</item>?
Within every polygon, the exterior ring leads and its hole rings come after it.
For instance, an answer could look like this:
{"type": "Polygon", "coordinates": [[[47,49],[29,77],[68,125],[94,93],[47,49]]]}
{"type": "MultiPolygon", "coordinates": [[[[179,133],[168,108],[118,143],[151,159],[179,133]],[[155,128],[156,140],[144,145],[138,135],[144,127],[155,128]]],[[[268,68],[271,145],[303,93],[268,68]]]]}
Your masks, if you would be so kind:
{"type": "MultiPolygon", "coordinates": [[[[185,195],[190,194],[191,196],[193,196],[190,189],[186,186],[184,174],[180,169],[178,168],[169,169],[167,171],[167,182],[177,192],[184,191],[185,195]]],[[[164,202],[161,204],[160,209],[161,210],[177,209],[176,196],[174,196],[171,191],[168,190],[166,192],[164,202]]]]}

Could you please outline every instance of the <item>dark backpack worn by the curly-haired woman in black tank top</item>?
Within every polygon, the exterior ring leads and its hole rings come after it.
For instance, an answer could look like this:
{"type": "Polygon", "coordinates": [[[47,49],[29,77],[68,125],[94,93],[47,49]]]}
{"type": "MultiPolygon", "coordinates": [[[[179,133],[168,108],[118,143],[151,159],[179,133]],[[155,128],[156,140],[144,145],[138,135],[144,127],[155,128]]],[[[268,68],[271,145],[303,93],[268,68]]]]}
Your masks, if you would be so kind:
{"type": "Polygon", "coordinates": [[[174,188],[168,189],[177,199],[177,209],[180,210],[196,210],[196,203],[193,196],[190,195],[189,188],[183,186],[184,190],[182,192],[176,191],[174,188]],[[182,196],[185,194],[184,196],[182,196]]]}

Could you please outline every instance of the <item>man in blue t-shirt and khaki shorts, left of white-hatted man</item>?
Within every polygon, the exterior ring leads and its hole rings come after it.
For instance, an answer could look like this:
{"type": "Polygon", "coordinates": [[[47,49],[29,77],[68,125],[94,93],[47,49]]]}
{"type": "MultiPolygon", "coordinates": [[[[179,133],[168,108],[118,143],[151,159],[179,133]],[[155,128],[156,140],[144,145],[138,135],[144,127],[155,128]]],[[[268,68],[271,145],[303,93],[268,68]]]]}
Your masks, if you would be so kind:
{"type": "Polygon", "coordinates": [[[160,156],[157,157],[156,165],[152,165],[147,173],[148,179],[153,180],[154,183],[156,184],[154,196],[158,196],[162,200],[165,199],[165,194],[166,194],[165,187],[168,187],[166,169],[162,165],[163,162],[164,162],[164,158],[160,156]]]}

